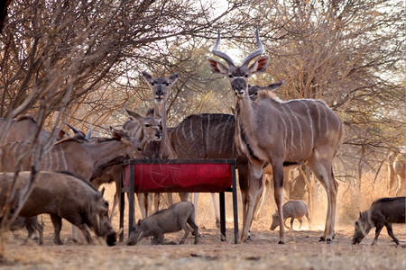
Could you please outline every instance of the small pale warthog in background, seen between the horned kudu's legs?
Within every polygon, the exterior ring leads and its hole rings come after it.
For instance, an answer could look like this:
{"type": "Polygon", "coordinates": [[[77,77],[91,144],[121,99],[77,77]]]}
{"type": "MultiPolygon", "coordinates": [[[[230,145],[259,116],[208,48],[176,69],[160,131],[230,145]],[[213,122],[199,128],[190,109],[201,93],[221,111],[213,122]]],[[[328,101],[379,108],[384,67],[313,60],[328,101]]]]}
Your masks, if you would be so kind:
{"type": "MultiPolygon", "coordinates": [[[[309,223],[309,229],[311,228],[310,226],[310,218],[309,218],[309,211],[308,211],[308,205],[306,204],[306,202],[303,201],[288,201],[285,202],[285,204],[283,204],[282,206],[282,211],[283,211],[283,225],[288,228],[293,230],[293,221],[295,219],[299,220],[299,230],[301,229],[301,223],[303,222],[301,219],[305,216],[306,219],[308,220],[309,223]],[[291,228],[289,228],[285,221],[287,219],[291,218],[291,228]]],[[[271,230],[276,229],[276,227],[278,227],[279,224],[279,215],[278,215],[278,211],[276,211],[273,215],[272,215],[272,225],[271,225],[271,230]]]]}

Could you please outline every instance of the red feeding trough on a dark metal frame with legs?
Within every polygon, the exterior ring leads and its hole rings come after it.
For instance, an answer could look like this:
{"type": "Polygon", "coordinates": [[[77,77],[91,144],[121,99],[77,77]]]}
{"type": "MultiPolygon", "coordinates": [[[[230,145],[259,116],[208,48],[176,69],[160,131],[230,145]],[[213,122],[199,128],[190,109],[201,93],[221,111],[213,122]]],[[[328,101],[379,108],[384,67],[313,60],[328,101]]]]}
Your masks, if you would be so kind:
{"type": "MultiPolygon", "coordinates": [[[[128,193],[128,231],[134,226],[134,193],[219,193],[220,232],[226,238],[225,192],[233,193],[234,238],[238,241],[235,159],[131,159],[123,163],[122,193],[128,193]]],[[[125,199],[121,196],[120,228],[125,199]]],[[[123,241],[124,233],[120,235],[123,241]]]]}

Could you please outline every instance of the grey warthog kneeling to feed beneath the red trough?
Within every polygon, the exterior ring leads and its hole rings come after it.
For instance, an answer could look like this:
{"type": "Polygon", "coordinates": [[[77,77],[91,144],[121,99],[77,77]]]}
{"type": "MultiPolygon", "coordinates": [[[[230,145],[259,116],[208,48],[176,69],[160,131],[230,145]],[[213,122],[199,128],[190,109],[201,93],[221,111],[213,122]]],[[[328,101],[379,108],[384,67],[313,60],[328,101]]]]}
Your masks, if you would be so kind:
{"type": "Polygon", "coordinates": [[[195,223],[195,209],[191,202],[178,202],[168,209],[156,211],[144,220],[138,220],[137,225],[130,233],[127,245],[134,246],[142,238],[153,237],[152,244],[174,244],[166,242],[164,233],[176,232],[183,229],[185,235],[179,244],[185,243],[189,235],[188,224],[193,228],[195,245],[198,244],[198,225],[195,223]]]}

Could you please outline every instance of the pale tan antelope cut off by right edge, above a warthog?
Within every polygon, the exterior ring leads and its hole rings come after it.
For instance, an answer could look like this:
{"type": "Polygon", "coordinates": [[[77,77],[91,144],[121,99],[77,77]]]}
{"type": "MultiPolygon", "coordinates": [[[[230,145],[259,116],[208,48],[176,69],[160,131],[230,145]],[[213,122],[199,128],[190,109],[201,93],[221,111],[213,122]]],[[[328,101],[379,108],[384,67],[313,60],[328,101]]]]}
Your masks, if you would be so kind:
{"type": "Polygon", "coordinates": [[[389,193],[402,196],[405,194],[405,150],[392,151],[389,155],[389,193]]]}

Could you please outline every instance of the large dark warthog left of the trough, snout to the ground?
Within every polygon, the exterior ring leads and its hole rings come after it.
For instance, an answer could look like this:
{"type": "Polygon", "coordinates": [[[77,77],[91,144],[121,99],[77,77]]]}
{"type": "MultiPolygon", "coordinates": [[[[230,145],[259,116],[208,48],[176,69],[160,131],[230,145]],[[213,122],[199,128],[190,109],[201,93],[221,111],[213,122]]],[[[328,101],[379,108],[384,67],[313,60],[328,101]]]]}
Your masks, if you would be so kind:
{"type": "MultiPolygon", "coordinates": [[[[108,219],[108,202],[103,199],[104,189],[98,192],[92,184],[72,175],[46,171],[38,174],[32,193],[19,212],[21,217],[49,213],[55,232],[54,242],[58,245],[62,244],[62,218],[78,226],[89,244],[92,238],[87,226],[97,237],[105,238],[109,246],[115,245],[116,234],[108,219]]],[[[19,173],[16,180],[17,194],[28,183],[29,177],[30,172],[19,173]]],[[[5,194],[13,178],[13,173],[0,174],[0,207],[5,205],[5,194]]]]}

